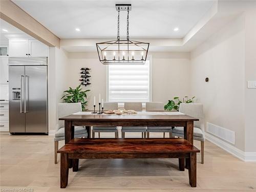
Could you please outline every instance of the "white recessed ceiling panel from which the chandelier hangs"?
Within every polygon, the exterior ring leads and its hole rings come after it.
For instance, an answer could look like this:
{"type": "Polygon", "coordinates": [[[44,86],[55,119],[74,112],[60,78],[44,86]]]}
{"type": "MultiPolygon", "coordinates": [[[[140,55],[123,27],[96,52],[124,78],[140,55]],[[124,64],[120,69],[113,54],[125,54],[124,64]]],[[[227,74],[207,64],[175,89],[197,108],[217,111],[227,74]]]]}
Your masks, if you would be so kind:
{"type": "MultiPolygon", "coordinates": [[[[59,38],[115,38],[115,4],[131,3],[131,38],[183,38],[215,1],[13,1],[59,38]],[[75,29],[79,28],[77,32],[75,29]],[[179,28],[174,31],[174,28],[179,28]]],[[[120,12],[120,35],[126,35],[120,12]]]]}

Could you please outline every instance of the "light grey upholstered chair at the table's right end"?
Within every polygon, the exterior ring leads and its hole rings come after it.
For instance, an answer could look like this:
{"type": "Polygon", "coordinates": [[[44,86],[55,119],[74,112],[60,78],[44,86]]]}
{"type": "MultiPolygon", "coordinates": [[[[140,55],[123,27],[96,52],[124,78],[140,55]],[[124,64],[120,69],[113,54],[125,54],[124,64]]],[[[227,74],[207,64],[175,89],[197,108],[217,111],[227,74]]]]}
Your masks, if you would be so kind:
{"type": "MultiPolygon", "coordinates": [[[[179,111],[191,117],[198,118],[194,121],[194,139],[201,141],[201,162],[204,163],[204,112],[203,104],[199,103],[181,103],[179,111]]],[[[184,137],[184,127],[175,127],[173,136],[184,137]]]]}

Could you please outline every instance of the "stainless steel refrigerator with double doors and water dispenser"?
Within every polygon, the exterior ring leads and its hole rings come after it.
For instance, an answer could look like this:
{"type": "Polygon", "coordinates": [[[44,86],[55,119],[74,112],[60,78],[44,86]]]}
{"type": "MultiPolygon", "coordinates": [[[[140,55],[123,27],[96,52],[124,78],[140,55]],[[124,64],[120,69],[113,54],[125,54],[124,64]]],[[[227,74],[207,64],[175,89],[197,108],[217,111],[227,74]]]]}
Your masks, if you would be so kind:
{"type": "Polygon", "coordinates": [[[47,57],[9,57],[9,132],[48,134],[47,57]]]}

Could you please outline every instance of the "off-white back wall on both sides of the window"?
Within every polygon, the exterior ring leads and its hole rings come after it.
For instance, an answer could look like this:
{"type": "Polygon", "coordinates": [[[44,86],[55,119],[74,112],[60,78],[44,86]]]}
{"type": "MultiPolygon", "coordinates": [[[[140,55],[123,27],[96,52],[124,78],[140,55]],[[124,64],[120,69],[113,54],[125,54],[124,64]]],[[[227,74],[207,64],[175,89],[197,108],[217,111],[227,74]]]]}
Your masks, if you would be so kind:
{"type": "MultiPolygon", "coordinates": [[[[189,95],[189,53],[153,52],[152,97],[153,101],[167,102],[174,96],[189,95]]],[[[93,109],[93,96],[100,93],[105,99],[106,66],[102,65],[96,52],[69,53],[68,71],[71,74],[67,86],[76,87],[79,82],[80,68],[88,67],[90,71],[90,89],[88,109],[93,109]]]]}

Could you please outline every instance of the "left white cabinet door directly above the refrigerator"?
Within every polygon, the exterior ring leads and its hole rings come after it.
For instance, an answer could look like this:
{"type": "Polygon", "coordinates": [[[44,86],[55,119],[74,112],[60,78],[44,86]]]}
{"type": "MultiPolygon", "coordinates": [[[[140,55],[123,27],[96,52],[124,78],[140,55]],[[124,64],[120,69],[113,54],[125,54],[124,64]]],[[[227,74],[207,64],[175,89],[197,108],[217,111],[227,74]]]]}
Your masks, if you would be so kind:
{"type": "Polygon", "coordinates": [[[9,56],[10,57],[26,57],[29,54],[28,39],[9,39],[9,56]]]}

